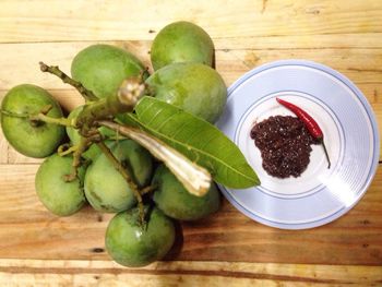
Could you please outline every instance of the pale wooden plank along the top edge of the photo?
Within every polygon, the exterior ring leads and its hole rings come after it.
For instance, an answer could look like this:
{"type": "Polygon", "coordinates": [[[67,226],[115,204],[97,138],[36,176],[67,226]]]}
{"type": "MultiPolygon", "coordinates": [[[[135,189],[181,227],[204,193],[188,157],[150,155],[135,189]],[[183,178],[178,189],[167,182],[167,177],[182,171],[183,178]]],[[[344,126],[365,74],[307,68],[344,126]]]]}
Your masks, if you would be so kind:
{"type": "Polygon", "coordinates": [[[1,1],[0,39],[10,41],[152,39],[166,24],[188,20],[214,38],[381,33],[380,1],[309,0],[188,2],[1,1]],[[49,9],[47,9],[49,8],[49,9]],[[223,8],[223,9],[220,9],[223,8]],[[169,13],[169,10],[171,13],[169,13]],[[154,32],[154,33],[153,33],[154,32]]]}

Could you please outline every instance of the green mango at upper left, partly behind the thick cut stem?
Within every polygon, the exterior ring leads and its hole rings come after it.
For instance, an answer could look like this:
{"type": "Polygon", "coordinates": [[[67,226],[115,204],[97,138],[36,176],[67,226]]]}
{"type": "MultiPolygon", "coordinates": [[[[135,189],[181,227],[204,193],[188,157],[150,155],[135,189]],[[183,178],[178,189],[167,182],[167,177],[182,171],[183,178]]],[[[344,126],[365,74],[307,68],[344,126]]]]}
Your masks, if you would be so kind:
{"type": "Polygon", "coordinates": [[[98,98],[116,94],[124,79],[138,76],[142,71],[143,64],[131,52],[104,44],[83,49],[71,65],[72,77],[98,98]]]}

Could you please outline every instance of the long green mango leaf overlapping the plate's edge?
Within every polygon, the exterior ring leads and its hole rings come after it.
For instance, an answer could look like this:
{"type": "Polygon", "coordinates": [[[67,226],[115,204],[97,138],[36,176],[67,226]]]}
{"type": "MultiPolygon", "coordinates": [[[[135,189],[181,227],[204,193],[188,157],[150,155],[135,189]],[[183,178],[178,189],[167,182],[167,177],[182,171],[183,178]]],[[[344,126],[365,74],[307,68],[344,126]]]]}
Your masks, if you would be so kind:
{"type": "Polygon", "coordinates": [[[119,119],[163,140],[205,167],[216,182],[227,188],[260,184],[240,150],[222,131],[170,104],[144,97],[135,106],[135,115],[124,113],[119,119]]]}

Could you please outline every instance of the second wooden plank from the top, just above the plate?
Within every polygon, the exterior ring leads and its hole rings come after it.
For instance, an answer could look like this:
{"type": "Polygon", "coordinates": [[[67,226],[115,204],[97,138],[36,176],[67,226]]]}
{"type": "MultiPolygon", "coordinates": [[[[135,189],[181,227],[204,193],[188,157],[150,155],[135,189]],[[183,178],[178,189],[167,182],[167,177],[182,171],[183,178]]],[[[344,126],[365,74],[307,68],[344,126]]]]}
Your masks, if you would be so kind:
{"type": "MultiPolygon", "coordinates": [[[[351,36],[356,43],[357,36],[351,36]]],[[[382,38],[382,37],[381,37],[382,38]]],[[[288,41],[288,38],[285,39],[288,41]]],[[[95,44],[80,43],[35,43],[35,44],[2,44],[0,53],[0,89],[9,89],[20,83],[34,83],[49,89],[68,88],[53,75],[41,73],[39,61],[57,64],[70,73],[73,57],[81,49],[95,44]]],[[[145,65],[150,64],[150,41],[107,41],[107,44],[123,47],[140,58],[145,65]]],[[[329,43],[327,43],[329,44],[329,43]]],[[[279,43],[279,45],[283,45],[279,43]]],[[[307,59],[318,61],[343,72],[357,84],[381,83],[382,48],[250,48],[250,49],[217,49],[216,69],[223,75],[227,85],[236,81],[244,72],[262,63],[280,59],[307,59]]],[[[382,45],[381,45],[382,46],[382,45]]]]}

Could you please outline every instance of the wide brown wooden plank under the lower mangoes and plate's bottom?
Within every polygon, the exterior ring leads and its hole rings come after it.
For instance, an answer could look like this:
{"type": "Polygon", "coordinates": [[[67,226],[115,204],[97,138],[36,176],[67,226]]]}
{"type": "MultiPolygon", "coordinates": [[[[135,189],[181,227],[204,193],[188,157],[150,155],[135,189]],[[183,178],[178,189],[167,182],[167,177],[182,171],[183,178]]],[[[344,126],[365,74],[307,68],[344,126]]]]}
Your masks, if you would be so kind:
{"type": "MultiPolygon", "coordinates": [[[[89,207],[50,215],[34,190],[36,165],[0,165],[0,258],[107,260],[111,215],[89,207]]],[[[382,168],[362,200],[339,219],[310,230],[260,225],[226,201],[207,219],[181,225],[166,260],[382,265],[382,168]]]]}

